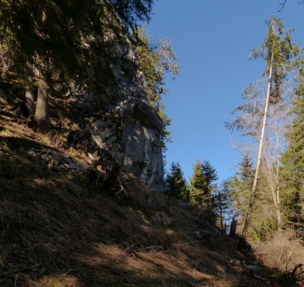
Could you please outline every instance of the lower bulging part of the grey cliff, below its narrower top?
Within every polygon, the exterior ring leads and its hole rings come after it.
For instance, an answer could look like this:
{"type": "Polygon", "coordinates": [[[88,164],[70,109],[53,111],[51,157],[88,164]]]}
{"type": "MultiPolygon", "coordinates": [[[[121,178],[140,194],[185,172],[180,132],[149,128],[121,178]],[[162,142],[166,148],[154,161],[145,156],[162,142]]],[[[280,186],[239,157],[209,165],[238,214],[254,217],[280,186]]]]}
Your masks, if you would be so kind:
{"type": "Polygon", "coordinates": [[[92,139],[107,150],[124,172],[162,190],[162,121],[144,102],[119,102],[105,119],[91,124],[92,139]]]}

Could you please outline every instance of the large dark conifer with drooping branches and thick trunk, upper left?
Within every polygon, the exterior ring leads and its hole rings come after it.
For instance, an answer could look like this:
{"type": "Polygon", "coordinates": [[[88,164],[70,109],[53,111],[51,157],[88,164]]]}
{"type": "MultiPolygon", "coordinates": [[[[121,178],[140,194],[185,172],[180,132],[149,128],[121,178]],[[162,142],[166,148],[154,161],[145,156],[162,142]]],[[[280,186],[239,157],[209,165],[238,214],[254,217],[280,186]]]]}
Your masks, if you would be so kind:
{"type": "MultiPolygon", "coordinates": [[[[26,79],[33,70],[38,71],[34,121],[39,130],[49,129],[49,93],[63,82],[84,85],[96,61],[92,46],[98,46],[94,52],[101,57],[107,51],[106,33],[134,39],[130,30],[135,30],[138,20],[149,21],[152,4],[153,0],[0,1],[1,45],[8,47],[21,77],[26,79]]],[[[107,75],[111,57],[101,58],[107,75]]],[[[101,78],[106,84],[108,79],[101,78]]]]}

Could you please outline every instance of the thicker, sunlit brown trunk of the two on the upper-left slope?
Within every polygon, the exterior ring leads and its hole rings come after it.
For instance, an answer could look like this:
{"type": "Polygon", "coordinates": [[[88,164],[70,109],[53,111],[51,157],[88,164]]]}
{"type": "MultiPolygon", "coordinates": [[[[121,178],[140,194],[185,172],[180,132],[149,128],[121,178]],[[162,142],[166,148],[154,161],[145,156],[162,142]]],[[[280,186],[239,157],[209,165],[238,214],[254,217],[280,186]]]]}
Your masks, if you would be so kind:
{"type": "Polygon", "coordinates": [[[50,130],[48,87],[42,77],[39,79],[34,125],[41,133],[47,133],[50,130]]]}

